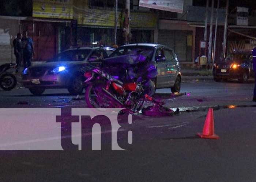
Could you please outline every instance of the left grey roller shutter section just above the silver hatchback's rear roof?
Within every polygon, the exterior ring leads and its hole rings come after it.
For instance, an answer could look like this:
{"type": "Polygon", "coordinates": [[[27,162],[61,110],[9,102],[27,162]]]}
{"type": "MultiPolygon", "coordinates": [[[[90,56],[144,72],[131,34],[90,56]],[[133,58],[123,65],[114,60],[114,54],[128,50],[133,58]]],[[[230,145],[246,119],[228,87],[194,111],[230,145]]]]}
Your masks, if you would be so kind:
{"type": "Polygon", "coordinates": [[[159,30],[158,44],[163,44],[174,50],[174,30],[159,30]]]}

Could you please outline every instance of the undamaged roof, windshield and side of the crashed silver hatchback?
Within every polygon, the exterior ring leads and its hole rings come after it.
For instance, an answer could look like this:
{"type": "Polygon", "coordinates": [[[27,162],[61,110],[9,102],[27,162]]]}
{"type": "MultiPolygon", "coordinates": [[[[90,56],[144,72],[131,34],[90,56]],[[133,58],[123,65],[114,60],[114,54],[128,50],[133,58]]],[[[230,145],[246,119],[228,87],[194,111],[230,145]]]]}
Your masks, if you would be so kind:
{"type": "Polygon", "coordinates": [[[128,44],[116,49],[110,55],[110,58],[129,54],[131,51],[138,50],[138,48],[150,52],[148,54],[149,60],[158,70],[157,78],[153,80],[155,88],[171,88],[173,93],[180,92],[180,65],[174,51],[166,46],[160,44],[128,44]]]}

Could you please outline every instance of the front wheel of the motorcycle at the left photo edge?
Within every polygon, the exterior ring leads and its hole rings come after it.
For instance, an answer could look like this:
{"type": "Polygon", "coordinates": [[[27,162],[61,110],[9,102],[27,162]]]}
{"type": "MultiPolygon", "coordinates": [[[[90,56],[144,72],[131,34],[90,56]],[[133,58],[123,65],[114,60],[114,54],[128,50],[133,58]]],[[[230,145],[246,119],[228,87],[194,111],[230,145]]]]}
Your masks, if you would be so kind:
{"type": "Polygon", "coordinates": [[[6,73],[0,77],[0,87],[5,91],[12,90],[16,84],[17,79],[13,74],[6,73]]]}

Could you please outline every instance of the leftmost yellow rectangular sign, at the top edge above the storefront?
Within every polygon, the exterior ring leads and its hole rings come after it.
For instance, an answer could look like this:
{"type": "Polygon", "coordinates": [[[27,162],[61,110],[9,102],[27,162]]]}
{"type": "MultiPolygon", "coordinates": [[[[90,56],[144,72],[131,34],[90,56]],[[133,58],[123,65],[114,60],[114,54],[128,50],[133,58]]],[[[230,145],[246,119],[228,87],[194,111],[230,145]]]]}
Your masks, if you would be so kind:
{"type": "Polygon", "coordinates": [[[33,17],[73,19],[73,0],[33,0],[33,17]]]}

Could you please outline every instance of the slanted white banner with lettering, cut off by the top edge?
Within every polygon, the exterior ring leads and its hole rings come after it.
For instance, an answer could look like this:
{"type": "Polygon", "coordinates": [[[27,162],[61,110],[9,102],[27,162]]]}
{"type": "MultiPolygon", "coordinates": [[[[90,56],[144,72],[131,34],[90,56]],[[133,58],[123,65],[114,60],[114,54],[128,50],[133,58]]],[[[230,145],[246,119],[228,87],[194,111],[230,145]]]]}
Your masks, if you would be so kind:
{"type": "Polygon", "coordinates": [[[140,0],[140,6],[176,13],[183,12],[183,0],[140,0]]]}

